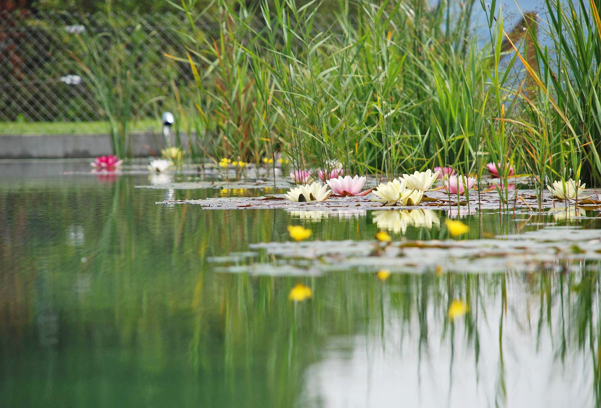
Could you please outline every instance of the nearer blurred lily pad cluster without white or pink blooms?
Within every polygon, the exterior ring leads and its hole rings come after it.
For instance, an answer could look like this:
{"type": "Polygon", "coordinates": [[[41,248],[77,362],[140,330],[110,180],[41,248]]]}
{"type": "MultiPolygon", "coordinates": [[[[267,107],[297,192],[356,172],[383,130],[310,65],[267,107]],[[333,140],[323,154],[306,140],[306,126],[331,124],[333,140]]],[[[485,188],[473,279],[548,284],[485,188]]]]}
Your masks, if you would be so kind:
{"type": "Polygon", "coordinates": [[[288,275],[287,268],[304,269],[311,275],[382,269],[393,273],[570,271],[581,268],[582,261],[601,260],[601,230],[555,227],[483,240],[318,240],[256,243],[250,248],[257,252],[255,261],[248,258],[247,264],[234,266],[220,258],[213,263],[222,272],[256,275],[288,275]],[[258,261],[261,251],[267,255],[262,259],[272,261],[258,261]]]}

